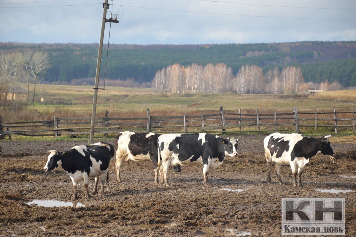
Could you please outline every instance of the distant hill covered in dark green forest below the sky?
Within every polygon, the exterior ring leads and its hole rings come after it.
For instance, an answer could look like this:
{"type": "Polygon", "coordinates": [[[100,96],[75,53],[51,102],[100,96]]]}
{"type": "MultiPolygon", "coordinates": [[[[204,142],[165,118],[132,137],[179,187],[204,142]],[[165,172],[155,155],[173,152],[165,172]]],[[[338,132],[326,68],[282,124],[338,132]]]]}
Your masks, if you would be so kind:
{"type": "MultiPolygon", "coordinates": [[[[98,43],[18,43],[0,42],[0,52],[23,48],[44,50],[51,55],[51,68],[45,81],[70,82],[95,77],[98,43]]],[[[106,47],[100,77],[104,77],[106,47]]],[[[110,44],[106,78],[135,82],[152,81],[155,72],[174,63],[225,63],[234,75],[241,65],[268,69],[284,66],[302,68],[306,82],[338,81],[344,87],[356,86],[356,41],[305,41],[290,43],[252,43],[224,45],[115,45],[110,44]]]]}

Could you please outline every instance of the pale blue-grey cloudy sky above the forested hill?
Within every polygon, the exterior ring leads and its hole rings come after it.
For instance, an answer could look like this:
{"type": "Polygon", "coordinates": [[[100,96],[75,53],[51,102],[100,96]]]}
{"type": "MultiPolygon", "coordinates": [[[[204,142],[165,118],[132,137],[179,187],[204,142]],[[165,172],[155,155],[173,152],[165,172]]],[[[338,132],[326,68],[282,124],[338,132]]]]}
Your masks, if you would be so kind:
{"type": "MultiPolygon", "coordinates": [[[[0,0],[0,42],[98,43],[102,2],[0,0]]],[[[109,4],[106,18],[110,11],[120,16],[119,24],[111,24],[110,43],[356,40],[356,0],[109,0],[109,4]]],[[[108,32],[106,23],[104,42],[108,32]]]]}

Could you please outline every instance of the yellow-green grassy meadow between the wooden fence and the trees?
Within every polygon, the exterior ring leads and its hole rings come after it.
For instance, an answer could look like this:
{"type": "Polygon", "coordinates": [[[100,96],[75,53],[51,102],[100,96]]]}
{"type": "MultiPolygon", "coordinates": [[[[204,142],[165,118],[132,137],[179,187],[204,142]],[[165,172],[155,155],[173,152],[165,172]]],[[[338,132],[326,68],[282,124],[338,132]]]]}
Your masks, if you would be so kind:
{"type": "MultiPolygon", "coordinates": [[[[38,85],[39,97],[46,99],[69,99],[72,105],[45,105],[36,103],[30,108],[39,112],[53,112],[65,109],[75,112],[90,112],[93,104],[92,86],[38,85]]],[[[355,108],[356,104],[308,98],[308,96],[280,96],[270,94],[155,94],[150,88],[106,87],[99,90],[97,112],[120,113],[127,110],[146,113],[150,110],[225,110],[238,109],[345,109],[355,108]]]]}

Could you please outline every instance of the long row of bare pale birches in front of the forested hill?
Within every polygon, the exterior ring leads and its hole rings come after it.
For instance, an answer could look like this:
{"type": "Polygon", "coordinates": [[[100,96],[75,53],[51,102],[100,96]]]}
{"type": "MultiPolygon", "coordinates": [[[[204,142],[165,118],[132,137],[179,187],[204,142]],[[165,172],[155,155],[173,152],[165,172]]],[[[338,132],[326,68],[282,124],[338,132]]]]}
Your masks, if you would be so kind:
{"type": "Polygon", "coordinates": [[[242,65],[234,75],[231,67],[224,63],[205,66],[193,63],[184,67],[179,63],[169,65],[157,71],[152,80],[155,93],[219,93],[235,91],[237,93],[307,93],[310,88],[328,90],[340,89],[341,84],[329,81],[305,83],[300,67],[278,67],[263,74],[256,65],[242,65]]]}

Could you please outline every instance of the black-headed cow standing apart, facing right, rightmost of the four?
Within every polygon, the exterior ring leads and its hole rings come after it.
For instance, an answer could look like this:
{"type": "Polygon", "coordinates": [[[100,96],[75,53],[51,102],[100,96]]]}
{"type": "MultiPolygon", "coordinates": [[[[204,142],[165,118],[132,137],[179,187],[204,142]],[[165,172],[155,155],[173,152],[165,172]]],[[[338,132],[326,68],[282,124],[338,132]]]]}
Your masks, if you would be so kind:
{"type": "Polygon", "coordinates": [[[321,138],[311,138],[297,133],[282,134],[272,133],[263,140],[265,146],[265,156],[267,161],[267,183],[271,183],[271,167],[274,162],[274,168],[277,172],[279,184],[283,184],[280,176],[282,164],[289,164],[293,174],[293,186],[302,186],[302,172],[304,165],[308,164],[310,158],[316,153],[321,152],[324,155],[334,155],[334,150],[328,140],[329,136],[321,138]]]}

